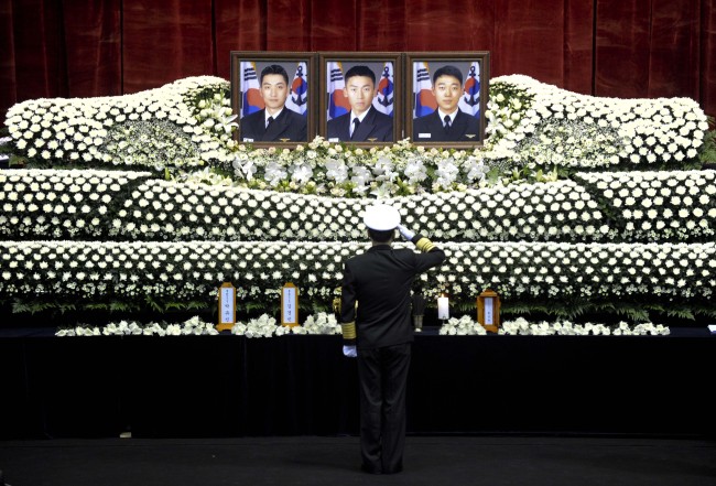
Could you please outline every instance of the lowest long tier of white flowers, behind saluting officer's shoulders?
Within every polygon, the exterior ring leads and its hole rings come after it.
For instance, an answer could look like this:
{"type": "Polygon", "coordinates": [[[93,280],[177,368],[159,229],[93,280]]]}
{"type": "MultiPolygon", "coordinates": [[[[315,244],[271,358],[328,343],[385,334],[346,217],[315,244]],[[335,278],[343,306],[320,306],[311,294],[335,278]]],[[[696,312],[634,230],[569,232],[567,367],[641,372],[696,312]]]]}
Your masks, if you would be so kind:
{"type": "MultiPolygon", "coordinates": [[[[397,248],[413,248],[395,244],[397,248]]],[[[426,298],[446,291],[473,301],[491,288],[513,301],[660,299],[708,302],[716,289],[716,245],[444,244],[443,267],[421,276],[426,298]]],[[[276,299],[288,281],[328,302],[343,261],[358,242],[0,241],[0,295],[93,300],[211,299],[224,281],[237,298],[276,299]]]]}

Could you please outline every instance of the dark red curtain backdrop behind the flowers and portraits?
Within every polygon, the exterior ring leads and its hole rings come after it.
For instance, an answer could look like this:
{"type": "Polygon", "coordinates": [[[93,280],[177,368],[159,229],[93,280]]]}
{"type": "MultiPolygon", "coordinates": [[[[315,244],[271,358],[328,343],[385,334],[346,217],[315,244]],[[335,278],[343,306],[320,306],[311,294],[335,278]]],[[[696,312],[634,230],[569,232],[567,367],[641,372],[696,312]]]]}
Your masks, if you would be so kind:
{"type": "Polygon", "coordinates": [[[0,0],[0,117],[229,78],[230,51],[490,51],[491,75],[716,115],[716,0],[0,0]]]}

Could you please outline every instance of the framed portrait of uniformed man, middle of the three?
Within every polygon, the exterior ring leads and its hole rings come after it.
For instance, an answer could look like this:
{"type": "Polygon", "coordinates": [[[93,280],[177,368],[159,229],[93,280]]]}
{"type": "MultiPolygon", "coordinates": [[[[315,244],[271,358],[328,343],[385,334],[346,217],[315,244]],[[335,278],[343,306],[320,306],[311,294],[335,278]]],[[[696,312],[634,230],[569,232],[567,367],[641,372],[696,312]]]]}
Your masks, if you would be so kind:
{"type": "Polygon", "coordinates": [[[318,65],[318,134],[358,147],[403,138],[401,53],[319,53],[318,65]]]}

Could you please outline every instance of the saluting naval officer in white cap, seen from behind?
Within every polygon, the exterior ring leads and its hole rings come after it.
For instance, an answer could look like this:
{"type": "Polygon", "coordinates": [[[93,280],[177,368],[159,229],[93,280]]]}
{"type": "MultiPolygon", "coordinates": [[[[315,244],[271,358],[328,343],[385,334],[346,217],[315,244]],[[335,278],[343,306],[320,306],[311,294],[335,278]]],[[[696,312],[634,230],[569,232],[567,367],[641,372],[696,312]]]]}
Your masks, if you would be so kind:
{"type": "Polygon", "coordinates": [[[415,276],[445,259],[430,239],[400,225],[392,206],[366,209],[371,247],[345,262],[340,322],[344,354],[358,359],[361,468],[393,474],[403,468],[405,387],[413,327],[410,291],[415,276]],[[391,246],[395,229],[412,249],[391,246]]]}

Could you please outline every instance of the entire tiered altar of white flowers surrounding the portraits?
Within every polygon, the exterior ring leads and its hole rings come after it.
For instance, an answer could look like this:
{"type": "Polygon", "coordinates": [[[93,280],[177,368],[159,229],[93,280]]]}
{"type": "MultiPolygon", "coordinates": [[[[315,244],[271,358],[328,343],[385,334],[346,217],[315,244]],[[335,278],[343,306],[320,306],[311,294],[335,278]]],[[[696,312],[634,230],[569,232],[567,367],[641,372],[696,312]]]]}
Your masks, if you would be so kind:
{"type": "Polygon", "coordinates": [[[417,284],[463,314],[490,288],[505,313],[528,317],[716,315],[716,173],[703,168],[714,142],[693,100],[597,98],[503,76],[491,80],[484,147],[316,138],[289,150],[234,141],[228,90],[195,77],[12,107],[4,306],[211,315],[230,281],[246,331],[292,281],[303,314],[325,318],[343,261],[366,248],[360,215],[380,198],[446,250],[417,284]]]}

